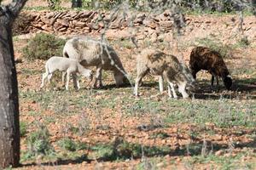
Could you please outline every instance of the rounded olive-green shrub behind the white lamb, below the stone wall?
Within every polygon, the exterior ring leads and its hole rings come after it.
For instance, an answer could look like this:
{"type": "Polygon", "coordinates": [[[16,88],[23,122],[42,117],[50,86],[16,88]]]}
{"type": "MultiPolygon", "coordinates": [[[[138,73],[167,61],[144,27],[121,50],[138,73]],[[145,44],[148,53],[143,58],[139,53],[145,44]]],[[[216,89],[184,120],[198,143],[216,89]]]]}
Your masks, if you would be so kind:
{"type": "Polygon", "coordinates": [[[51,34],[39,33],[27,43],[25,48],[22,48],[22,55],[29,60],[46,60],[53,55],[61,56],[64,44],[64,39],[51,34]]]}

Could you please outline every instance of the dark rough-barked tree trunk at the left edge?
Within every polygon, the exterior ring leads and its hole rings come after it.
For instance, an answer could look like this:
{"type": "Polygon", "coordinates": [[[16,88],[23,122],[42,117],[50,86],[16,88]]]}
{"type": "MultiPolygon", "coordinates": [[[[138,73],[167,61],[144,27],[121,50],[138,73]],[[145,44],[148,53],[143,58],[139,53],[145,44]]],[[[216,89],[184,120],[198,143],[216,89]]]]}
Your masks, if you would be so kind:
{"type": "Polygon", "coordinates": [[[20,163],[18,82],[12,25],[26,0],[0,6],[0,169],[20,163]]]}

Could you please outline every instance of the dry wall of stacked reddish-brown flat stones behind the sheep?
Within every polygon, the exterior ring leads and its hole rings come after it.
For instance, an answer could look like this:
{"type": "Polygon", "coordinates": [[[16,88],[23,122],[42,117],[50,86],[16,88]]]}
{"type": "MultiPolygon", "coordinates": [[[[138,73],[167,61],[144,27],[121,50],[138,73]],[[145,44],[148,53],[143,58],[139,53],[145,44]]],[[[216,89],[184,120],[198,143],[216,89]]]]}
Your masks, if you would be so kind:
{"type": "Polygon", "coordinates": [[[96,11],[25,11],[15,23],[15,34],[24,34],[36,31],[49,31],[61,34],[88,33],[100,31],[109,23],[108,29],[124,29],[128,26],[147,26],[152,29],[160,27],[163,31],[172,28],[171,15],[164,14],[147,17],[146,14],[137,14],[123,18],[121,14],[110,14],[110,12],[98,13],[96,11]]]}

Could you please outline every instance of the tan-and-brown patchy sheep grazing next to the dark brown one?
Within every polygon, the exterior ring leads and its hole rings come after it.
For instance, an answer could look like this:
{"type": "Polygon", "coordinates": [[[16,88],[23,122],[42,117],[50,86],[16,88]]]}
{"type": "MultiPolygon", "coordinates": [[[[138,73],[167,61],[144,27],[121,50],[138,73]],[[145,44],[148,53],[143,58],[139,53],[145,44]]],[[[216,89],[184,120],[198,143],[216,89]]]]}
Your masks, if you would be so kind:
{"type": "Polygon", "coordinates": [[[137,78],[134,88],[134,94],[136,96],[138,96],[139,84],[148,73],[159,76],[160,94],[164,90],[163,78],[166,78],[170,98],[172,98],[173,94],[173,98],[177,99],[174,84],[177,84],[178,91],[183,95],[183,98],[188,98],[189,94],[186,92],[186,88],[189,86],[193,88],[195,83],[195,79],[189,72],[189,68],[180,63],[177,57],[165,54],[157,49],[145,48],[141,54],[137,55],[137,78]]]}

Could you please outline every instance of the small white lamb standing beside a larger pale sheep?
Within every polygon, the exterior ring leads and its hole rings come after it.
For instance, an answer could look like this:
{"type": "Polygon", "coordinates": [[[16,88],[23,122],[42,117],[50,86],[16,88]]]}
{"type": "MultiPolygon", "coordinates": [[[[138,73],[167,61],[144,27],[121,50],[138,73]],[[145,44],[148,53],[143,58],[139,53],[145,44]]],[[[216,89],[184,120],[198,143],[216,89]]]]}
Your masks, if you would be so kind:
{"type": "Polygon", "coordinates": [[[92,72],[88,69],[85,69],[83,65],[80,65],[78,60],[53,56],[49,58],[45,63],[45,73],[43,74],[40,88],[44,87],[44,81],[46,77],[50,82],[50,79],[55,71],[62,71],[62,73],[64,73],[62,74],[62,82],[64,82],[65,75],[67,75],[67,82],[65,85],[66,90],[68,90],[70,75],[73,77],[74,88],[77,90],[80,88],[77,73],[87,77],[90,81],[92,79],[92,72]]]}

